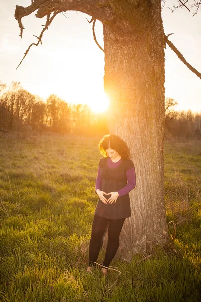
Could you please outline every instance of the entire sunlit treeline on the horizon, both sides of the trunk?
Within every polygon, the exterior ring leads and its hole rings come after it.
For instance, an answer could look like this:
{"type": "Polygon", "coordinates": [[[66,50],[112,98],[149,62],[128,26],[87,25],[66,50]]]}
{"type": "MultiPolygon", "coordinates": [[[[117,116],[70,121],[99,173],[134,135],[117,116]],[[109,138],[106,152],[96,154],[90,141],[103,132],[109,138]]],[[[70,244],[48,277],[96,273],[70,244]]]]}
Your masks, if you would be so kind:
{"type": "MultiPolygon", "coordinates": [[[[165,138],[201,139],[201,113],[175,111],[177,102],[165,99],[165,138]]],[[[19,82],[0,82],[0,131],[102,135],[108,133],[105,113],[88,105],[69,104],[56,95],[46,101],[23,89],[19,82]]]]}

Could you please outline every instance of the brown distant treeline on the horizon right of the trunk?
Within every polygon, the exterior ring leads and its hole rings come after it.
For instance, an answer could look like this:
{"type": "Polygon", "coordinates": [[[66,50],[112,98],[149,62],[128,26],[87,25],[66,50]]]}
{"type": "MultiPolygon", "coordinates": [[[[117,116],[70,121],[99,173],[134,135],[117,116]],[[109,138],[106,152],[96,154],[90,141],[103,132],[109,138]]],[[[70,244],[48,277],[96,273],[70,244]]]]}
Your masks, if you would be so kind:
{"type": "Polygon", "coordinates": [[[174,99],[165,99],[165,138],[201,139],[201,112],[175,111],[177,104],[174,99]]]}

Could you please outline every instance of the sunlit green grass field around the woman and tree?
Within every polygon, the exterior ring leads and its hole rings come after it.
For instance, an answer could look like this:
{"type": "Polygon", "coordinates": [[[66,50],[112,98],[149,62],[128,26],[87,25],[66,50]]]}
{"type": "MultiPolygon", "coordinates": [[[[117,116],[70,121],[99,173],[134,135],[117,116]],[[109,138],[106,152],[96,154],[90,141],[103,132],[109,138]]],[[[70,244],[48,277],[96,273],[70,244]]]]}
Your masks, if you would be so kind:
{"type": "Polygon", "coordinates": [[[199,301],[201,145],[165,143],[167,220],[182,257],[113,261],[121,275],[103,278],[85,272],[98,140],[0,139],[0,301],[199,301]]]}

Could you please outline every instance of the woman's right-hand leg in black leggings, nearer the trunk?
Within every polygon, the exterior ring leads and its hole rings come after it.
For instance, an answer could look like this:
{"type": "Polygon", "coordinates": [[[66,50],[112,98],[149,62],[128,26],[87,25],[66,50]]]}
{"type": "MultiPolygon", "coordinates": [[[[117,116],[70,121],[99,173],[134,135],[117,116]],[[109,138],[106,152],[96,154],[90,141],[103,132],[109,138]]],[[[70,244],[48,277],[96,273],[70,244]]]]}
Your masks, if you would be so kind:
{"type": "Polygon", "coordinates": [[[106,255],[104,259],[104,266],[109,267],[110,262],[115,257],[119,246],[119,236],[122,230],[122,226],[124,224],[125,218],[109,220],[108,224],[108,244],[106,248],[106,255]]]}

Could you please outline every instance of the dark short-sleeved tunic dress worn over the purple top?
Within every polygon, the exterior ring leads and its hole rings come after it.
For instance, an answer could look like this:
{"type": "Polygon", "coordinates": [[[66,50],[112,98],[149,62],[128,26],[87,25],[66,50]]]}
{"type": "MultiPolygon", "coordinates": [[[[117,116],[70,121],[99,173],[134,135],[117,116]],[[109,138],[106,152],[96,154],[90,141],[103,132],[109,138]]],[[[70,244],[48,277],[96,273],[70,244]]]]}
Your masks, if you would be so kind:
{"type": "MultiPolygon", "coordinates": [[[[118,167],[112,169],[107,165],[108,157],[103,157],[99,161],[101,168],[102,185],[101,190],[110,193],[116,192],[127,184],[126,171],[134,168],[134,164],[130,159],[122,159],[118,167]]],[[[110,195],[105,195],[106,199],[110,195]]],[[[95,215],[107,219],[122,219],[131,216],[130,198],[129,194],[122,195],[117,198],[116,203],[104,204],[100,199],[98,200],[95,215]]]]}

